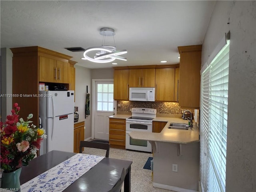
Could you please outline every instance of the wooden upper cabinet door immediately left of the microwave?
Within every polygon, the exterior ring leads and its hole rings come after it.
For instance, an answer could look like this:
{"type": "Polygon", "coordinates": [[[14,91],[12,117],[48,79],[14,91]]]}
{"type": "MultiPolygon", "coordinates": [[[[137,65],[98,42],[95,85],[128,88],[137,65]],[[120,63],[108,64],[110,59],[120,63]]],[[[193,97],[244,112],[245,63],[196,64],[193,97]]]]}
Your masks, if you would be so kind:
{"type": "Polygon", "coordinates": [[[129,70],[114,70],[114,100],[129,100],[129,70]]]}

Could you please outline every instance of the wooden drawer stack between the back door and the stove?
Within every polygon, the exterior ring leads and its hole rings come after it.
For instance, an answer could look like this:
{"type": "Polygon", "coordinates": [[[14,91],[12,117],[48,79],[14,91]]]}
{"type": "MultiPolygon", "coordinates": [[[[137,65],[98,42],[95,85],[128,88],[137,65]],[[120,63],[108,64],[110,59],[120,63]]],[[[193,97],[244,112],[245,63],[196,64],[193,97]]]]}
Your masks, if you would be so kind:
{"type": "Polygon", "coordinates": [[[125,149],[125,119],[109,119],[109,144],[110,147],[125,149]]]}

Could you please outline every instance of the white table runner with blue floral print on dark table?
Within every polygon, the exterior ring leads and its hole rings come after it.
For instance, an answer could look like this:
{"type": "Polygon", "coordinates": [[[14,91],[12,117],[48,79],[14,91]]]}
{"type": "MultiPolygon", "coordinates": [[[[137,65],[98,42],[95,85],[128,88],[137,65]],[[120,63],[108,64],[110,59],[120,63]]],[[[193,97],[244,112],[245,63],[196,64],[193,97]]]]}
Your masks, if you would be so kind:
{"type": "Polygon", "coordinates": [[[101,156],[78,153],[22,184],[20,190],[21,192],[61,192],[103,158],[101,156]]]}

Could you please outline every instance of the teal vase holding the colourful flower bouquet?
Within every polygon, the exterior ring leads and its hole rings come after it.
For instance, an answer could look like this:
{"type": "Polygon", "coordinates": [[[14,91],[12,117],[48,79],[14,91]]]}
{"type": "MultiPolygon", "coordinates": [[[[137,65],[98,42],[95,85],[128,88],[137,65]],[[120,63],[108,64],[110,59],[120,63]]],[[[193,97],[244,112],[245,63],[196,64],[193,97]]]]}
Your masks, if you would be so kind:
{"type": "Polygon", "coordinates": [[[5,188],[10,191],[20,190],[20,172],[21,168],[9,173],[2,173],[1,188],[5,188]]]}

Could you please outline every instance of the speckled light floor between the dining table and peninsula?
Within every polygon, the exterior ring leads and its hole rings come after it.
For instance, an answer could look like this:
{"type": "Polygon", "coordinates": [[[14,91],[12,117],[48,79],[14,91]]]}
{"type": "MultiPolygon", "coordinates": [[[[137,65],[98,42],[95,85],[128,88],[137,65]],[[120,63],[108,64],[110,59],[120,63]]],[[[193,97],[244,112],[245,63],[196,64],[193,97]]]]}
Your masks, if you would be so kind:
{"type": "MultiPolygon", "coordinates": [[[[105,156],[106,150],[85,148],[83,153],[105,156]]],[[[172,192],[170,190],[153,187],[152,171],[148,169],[143,169],[144,164],[148,160],[148,157],[152,157],[152,154],[116,148],[110,148],[109,152],[109,158],[132,161],[131,192],[172,192]]],[[[123,192],[123,188],[121,192],[123,192]]]]}

